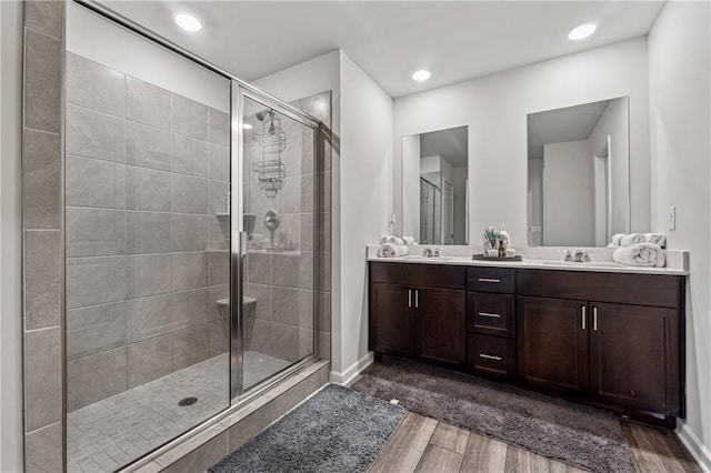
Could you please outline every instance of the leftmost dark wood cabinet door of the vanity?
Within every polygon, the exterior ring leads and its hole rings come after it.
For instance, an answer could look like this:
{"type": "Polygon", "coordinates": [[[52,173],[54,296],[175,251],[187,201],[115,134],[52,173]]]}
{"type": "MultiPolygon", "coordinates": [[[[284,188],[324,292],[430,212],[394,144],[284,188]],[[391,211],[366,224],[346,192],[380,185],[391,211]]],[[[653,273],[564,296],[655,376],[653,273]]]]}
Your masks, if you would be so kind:
{"type": "Polygon", "coordinates": [[[414,290],[402,285],[370,285],[370,349],[378,353],[413,354],[414,290]]]}

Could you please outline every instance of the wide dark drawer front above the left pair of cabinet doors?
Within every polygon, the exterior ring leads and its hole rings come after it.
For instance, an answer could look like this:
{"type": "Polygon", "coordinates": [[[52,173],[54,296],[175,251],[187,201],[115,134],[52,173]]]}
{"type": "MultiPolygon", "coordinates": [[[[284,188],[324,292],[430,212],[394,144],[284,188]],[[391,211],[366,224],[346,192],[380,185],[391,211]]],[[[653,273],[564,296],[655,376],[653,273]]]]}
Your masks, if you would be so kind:
{"type": "Polygon", "coordinates": [[[463,290],[467,273],[463,266],[417,263],[370,263],[370,281],[420,288],[463,290]]]}

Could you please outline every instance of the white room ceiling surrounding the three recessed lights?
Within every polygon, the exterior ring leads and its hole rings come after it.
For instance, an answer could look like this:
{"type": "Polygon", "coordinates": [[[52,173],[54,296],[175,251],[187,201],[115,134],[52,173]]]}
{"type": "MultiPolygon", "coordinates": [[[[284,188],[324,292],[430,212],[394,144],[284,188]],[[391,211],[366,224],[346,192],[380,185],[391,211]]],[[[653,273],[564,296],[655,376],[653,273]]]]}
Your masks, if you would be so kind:
{"type": "Polygon", "coordinates": [[[341,48],[385,92],[401,97],[647,34],[661,1],[102,1],[252,81],[341,48]],[[199,17],[180,30],[177,11],[199,17]],[[573,42],[571,27],[598,21],[573,42]],[[425,68],[432,78],[410,76],[425,68]]]}

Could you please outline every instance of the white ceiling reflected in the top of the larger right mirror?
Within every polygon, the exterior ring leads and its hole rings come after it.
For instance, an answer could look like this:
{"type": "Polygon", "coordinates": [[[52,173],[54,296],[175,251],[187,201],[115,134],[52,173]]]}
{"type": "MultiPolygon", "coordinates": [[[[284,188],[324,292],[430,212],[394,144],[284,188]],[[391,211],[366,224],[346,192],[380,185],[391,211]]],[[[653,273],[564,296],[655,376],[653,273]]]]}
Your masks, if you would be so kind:
{"type": "Polygon", "coordinates": [[[530,114],[529,159],[543,158],[545,143],[565,143],[590,138],[610,102],[611,100],[603,100],[530,114]]]}

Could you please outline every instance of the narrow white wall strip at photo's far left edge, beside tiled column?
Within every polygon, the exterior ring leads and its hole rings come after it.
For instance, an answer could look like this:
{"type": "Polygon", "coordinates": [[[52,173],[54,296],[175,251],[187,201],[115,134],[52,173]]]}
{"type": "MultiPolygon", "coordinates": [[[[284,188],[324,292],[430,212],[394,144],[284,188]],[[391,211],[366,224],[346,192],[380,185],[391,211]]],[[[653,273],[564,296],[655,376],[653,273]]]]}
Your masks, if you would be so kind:
{"type": "Polygon", "coordinates": [[[0,471],[22,471],[22,3],[0,2],[0,471]]]}

